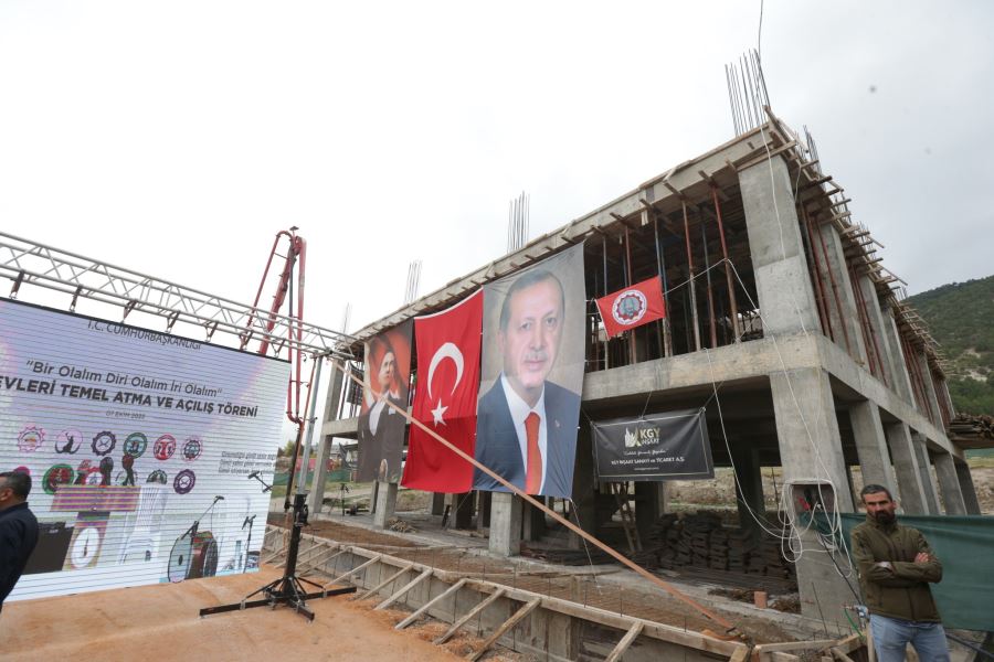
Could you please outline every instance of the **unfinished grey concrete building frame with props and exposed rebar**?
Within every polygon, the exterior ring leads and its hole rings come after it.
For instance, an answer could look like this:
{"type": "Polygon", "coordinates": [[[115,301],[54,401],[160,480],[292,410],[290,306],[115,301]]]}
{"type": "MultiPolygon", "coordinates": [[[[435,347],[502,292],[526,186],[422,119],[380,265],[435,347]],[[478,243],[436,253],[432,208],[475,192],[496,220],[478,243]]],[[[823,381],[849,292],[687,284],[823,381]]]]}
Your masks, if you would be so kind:
{"type": "MultiPolygon", "coordinates": [[[[570,508],[585,531],[598,535],[618,509],[614,490],[596,483],[590,420],[690,407],[707,408],[716,466],[734,468],[743,527],[757,527],[765,512],[763,467],[782,468],[786,510],[817,494],[853,512],[850,469],[858,467],[864,484],[889,487],[906,513],[979,514],[963,451],[947,434],[953,406],[938,346],[902,302],[900,279],[882,267],[849,202],[823,172],[810,137],[769,114],[761,126],[356,335],[446,308],[583,243],[590,307],[570,508]],[[668,318],[606,340],[593,299],[657,274],[668,318]]],[[[322,458],[334,437],[357,435],[348,391],[336,371],[322,458]]],[[[624,498],[643,531],[666,510],[663,487],[635,483],[624,498]]],[[[392,514],[395,495],[396,485],[380,485],[378,522],[392,514]]],[[[322,496],[318,487],[313,509],[322,496]]],[[[458,525],[474,512],[488,524],[491,552],[514,555],[522,536],[543,535],[543,517],[510,494],[455,503],[458,525]]],[[[810,535],[800,543],[818,549],[810,535]]],[[[853,602],[828,555],[805,553],[796,570],[804,613],[853,602]]]]}

